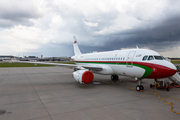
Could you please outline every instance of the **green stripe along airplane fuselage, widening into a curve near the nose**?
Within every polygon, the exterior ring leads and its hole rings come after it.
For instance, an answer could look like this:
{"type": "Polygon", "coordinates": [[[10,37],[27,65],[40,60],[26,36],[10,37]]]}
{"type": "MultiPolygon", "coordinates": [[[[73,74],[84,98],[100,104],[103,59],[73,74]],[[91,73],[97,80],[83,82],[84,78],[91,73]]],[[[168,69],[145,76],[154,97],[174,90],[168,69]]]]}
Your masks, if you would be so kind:
{"type": "MultiPolygon", "coordinates": [[[[111,65],[132,65],[131,63],[104,63],[104,62],[76,62],[76,63],[90,63],[90,64],[111,64],[111,65]]],[[[145,70],[144,75],[141,78],[146,78],[153,70],[147,66],[139,65],[139,64],[133,64],[133,66],[143,68],[145,70]]]]}

